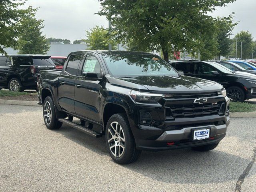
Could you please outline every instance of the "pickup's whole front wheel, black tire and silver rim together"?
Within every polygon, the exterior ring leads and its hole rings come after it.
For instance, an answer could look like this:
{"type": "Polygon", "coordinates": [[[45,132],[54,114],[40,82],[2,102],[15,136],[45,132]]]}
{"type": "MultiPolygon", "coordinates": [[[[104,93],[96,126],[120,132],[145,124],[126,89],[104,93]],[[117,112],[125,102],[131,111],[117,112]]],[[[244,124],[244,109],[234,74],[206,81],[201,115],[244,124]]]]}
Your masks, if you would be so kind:
{"type": "Polygon", "coordinates": [[[114,114],[106,126],[106,145],[114,162],[128,164],[136,161],[141,151],[136,144],[125,114],[114,114]]]}

